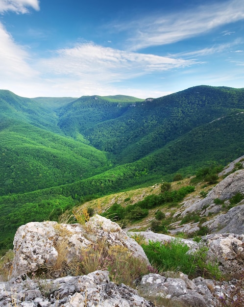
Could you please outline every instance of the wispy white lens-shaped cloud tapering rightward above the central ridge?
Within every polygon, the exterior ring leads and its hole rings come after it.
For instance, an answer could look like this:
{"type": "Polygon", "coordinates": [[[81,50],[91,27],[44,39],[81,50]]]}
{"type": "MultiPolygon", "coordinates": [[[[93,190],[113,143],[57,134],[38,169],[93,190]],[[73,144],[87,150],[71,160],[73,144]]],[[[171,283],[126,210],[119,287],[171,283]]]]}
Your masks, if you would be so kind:
{"type": "Polygon", "coordinates": [[[85,43],[58,50],[49,59],[41,60],[38,66],[55,76],[118,82],[193,64],[192,60],[127,52],[85,43]]]}

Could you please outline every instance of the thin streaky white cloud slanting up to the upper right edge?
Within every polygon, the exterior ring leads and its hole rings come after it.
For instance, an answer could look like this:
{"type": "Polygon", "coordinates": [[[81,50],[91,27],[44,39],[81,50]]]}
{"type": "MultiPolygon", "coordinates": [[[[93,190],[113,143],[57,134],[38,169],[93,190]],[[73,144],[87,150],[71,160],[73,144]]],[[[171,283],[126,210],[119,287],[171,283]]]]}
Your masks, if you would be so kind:
{"type": "Polygon", "coordinates": [[[128,47],[135,51],[175,43],[243,19],[244,1],[229,0],[171,15],[149,15],[131,23],[114,25],[114,28],[130,33],[128,47]]]}

